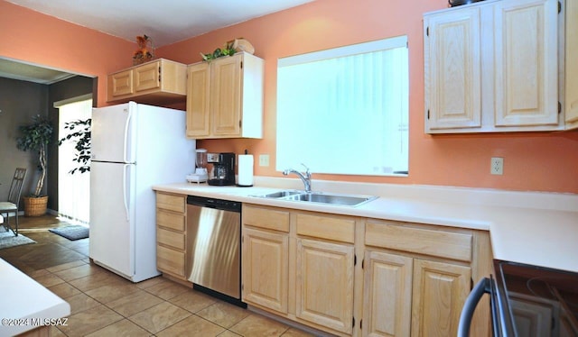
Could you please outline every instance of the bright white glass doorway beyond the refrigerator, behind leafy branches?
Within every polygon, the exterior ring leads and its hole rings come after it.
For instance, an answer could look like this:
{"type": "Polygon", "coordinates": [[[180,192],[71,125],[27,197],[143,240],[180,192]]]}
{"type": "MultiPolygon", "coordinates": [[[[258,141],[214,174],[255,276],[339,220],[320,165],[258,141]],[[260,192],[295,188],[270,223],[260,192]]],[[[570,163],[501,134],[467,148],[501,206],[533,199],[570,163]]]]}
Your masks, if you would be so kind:
{"type": "MultiPolygon", "coordinates": [[[[67,123],[88,121],[92,115],[92,96],[79,96],[54,103],[59,109],[58,138],[66,138],[73,132],[82,130],[79,124],[70,130],[67,123]]],[[[78,161],[78,150],[75,148],[77,138],[62,141],[58,149],[58,212],[61,217],[71,222],[88,225],[90,221],[90,171],[80,169],[83,164],[78,161]]]]}

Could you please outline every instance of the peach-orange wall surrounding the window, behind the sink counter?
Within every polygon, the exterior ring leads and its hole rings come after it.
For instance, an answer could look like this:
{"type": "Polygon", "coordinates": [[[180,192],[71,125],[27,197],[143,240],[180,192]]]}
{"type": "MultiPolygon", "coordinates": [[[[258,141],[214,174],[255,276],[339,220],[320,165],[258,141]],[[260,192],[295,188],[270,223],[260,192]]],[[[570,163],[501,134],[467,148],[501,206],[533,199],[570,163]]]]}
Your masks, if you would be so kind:
{"type": "Polygon", "coordinates": [[[313,50],[406,34],[410,57],[409,177],[359,177],[314,174],[313,178],[396,184],[487,187],[508,190],[578,193],[578,132],[481,135],[424,134],[424,39],[422,14],[442,9],[446,0],[317,0],[277,14],[210,32],[161,49],[163,57],[186,63],[200,60],[225,41],[244,37],[266,60],[265,139],[211,140],[199,145],[212,151],[256,156],[270,154],[271,166],[256,166],[256,175],[275,171],[276,59],[313,50]],[[504,175],[489,174],[491,157],[504,157],[504,175]]]}

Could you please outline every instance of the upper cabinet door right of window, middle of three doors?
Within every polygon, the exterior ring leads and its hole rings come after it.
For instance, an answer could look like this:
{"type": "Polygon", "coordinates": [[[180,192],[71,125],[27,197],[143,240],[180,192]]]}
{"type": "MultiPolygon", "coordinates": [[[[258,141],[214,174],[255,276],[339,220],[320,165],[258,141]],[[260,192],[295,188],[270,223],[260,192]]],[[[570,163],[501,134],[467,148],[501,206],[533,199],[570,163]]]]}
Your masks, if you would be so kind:
{"type": "Polygon", "coordinates": [[[495,5],[496,126],[558,123],[556,0],[495,5]]]}

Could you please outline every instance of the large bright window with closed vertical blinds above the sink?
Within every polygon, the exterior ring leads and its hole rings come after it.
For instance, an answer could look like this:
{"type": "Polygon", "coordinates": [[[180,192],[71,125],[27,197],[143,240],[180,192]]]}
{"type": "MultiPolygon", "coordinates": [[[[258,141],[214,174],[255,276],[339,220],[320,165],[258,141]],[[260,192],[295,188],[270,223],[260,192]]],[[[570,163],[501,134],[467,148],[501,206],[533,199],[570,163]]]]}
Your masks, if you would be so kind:
{"type": "Polygon", "coordinates": [[[279,59],[276,169],[406,174],[407,37],[279,59]]]}

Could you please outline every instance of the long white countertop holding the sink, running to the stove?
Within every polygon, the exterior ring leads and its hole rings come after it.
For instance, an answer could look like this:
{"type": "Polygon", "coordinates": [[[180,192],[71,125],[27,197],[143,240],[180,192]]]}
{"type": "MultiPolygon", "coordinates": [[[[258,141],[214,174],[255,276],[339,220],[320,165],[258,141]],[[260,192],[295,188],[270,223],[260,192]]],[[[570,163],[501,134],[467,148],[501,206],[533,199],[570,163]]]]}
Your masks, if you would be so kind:
{"type": "Polygon", "coordinates": [[[153,189],[256,205],[489,231],[494,259],[578,272],[576,195],[313,182],[315,191],[379,196],[374,201],[350,207],[255,197],[280,189],[303,189],[298,179],[256,178],[255,183],[258,187],[182,183],[154,186],[153,189]]]}

